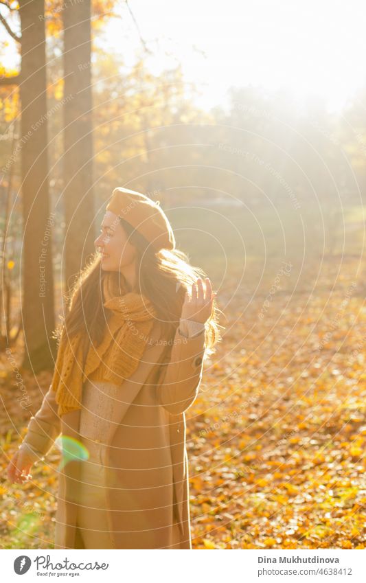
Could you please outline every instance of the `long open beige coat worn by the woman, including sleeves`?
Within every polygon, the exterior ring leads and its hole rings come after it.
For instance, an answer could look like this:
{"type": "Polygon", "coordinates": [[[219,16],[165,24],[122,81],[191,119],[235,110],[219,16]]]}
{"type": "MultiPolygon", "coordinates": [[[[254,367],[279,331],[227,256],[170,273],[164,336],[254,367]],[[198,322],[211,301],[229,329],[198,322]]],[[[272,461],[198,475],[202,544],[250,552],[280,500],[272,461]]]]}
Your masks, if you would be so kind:
{"type": "MultiPolygon", "coordinates": [[[[139,366],[122,380],[119,424],[109,432],[103,460],[112,548],[192,548],[185,411],[198,394],[204,352],[204,333],[185,338],[178,327],[167,341],[157,322],[139,366]],[[172,542],[174,521],[178,546],[172,542]]],[[[54,395],[51,389],[45,394],[23,439],[40,456],[60,435],[80,440],[80,409],[60,418],[54,395]]],[[[80,464],[74,459],[59,472],[55,549],[84,548],[76,524],[80,464]]]]}

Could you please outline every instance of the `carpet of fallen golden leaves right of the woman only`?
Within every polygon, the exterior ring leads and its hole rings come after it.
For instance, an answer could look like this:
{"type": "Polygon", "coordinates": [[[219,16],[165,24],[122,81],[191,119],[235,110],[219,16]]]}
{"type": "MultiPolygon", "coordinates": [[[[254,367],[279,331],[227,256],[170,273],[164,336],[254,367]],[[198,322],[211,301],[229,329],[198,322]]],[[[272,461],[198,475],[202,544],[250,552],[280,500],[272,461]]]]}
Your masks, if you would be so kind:
{"type": "Polygon", "coordinates": [[[288,308],[278,297],[259,326],[260,297],[244,320],[238,299],[225,309],[228,332],[187,412],[195,548],[366,548],[362,298],[317,350],[342,299],[304,308],[299,295],[288,308]]]}

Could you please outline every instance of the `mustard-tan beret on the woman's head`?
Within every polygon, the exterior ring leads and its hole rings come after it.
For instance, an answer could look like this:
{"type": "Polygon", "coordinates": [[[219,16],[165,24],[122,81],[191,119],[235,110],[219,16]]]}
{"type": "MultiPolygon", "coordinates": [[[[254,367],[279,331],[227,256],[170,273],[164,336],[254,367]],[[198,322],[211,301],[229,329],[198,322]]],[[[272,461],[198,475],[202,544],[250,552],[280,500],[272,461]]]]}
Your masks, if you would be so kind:
{"type": "Polygon", "coordinates": [[[155,249],[175,249],[173,229],[159,205],[159,201],[152,201],[140,192],[119,186],[113,190],[106,210],[124,218],[155,249]]]}

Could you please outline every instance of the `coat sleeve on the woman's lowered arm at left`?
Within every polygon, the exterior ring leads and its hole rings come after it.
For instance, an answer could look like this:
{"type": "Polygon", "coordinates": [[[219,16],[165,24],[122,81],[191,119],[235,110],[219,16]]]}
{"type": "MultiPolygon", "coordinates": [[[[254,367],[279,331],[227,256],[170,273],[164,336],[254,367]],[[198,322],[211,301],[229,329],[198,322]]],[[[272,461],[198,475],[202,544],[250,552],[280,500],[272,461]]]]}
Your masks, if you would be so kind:
{"type": "Polygon", "coordinates": [[[28,446],[40,457],[49,453],[55,439],[61,433],[61,419],[57,413],[55,394],[50,385],[40,409],[30,418],[28,431],[21,444],[21,447],[28,446]]]}

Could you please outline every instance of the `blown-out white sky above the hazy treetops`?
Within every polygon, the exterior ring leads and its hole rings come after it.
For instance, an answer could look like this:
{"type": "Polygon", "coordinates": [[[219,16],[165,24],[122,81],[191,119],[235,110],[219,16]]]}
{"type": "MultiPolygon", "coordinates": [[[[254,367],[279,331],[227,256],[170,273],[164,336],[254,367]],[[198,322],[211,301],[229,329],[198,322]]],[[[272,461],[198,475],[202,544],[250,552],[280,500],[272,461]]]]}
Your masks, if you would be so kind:
{"type": "MultiPolygon", "coordinates": [[[[231,85],[253,84],[269,91],[284,87],[299,102],[319,96],[336,111],[365,82],[363,0],[129,3],[148,46],[156,51],[150,41],[158,38],[181,60],[187,81],[205,89],[206,106],[225,103],[231,85]]],[[[124,3],[121,7],[122,21],[112,21],[105,38],[116,52],[133,58],[139,36],[124,3]]],[[[164,62],[161,51],[151,67],[159,71],[164,62]]]]}

